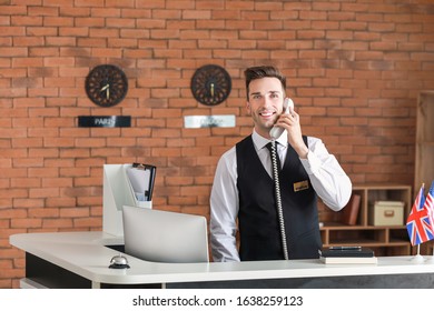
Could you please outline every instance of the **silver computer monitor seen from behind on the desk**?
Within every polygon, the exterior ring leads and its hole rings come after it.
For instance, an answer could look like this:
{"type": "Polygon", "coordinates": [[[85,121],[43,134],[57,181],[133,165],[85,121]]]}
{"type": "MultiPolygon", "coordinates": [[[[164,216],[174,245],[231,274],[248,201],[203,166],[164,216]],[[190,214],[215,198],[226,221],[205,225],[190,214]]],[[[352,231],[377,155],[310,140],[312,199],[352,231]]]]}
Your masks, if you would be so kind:
{"type": "Polygon", "coordinates": [[[124,205],[125,252],[146,261],[208,262],[205,217],[124,205]]]}

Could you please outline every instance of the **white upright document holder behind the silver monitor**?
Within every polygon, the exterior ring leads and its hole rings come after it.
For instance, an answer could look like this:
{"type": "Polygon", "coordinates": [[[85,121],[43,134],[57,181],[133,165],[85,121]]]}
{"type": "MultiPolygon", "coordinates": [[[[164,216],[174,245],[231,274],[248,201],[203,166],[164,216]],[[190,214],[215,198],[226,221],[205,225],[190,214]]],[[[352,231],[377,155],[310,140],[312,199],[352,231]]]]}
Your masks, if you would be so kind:
{"type": "MultiPolygon", "coordinates": [[[[131,182],[127,174],[127,171],[131,170],[132,165],[134,164],[103,165],[102,231],[117,237],[124,235],[124,205],[132,205],[148,209],[152,208],[152,201],[150,200],[151,192],[148,194],[148,201],[141,201],[142,198],[140,198],[140,195],[136,195],[136,191],[132,188],[132,184],[136,184],[136,182],[138,181],[136,180],[131,182]]],[[[149,187],[154,187],[155,167],[152,168],[152,180],[145,181],[147,191],[149,191],[149,187]]],[[[148,172],[147,175],[150,178],[150,172],[148,172]]]]}

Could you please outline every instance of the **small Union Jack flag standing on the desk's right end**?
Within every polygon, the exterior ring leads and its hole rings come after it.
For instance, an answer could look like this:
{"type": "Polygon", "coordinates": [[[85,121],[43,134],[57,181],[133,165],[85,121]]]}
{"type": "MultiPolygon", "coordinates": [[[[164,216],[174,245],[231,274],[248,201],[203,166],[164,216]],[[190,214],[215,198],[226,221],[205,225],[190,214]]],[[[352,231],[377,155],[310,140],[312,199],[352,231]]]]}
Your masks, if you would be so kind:
{"type": "Polygon", "coordinates": [[[412,245],[418,245],[434,239],[433,225],[424,203],[425,194],[424,185],[422,185],[407,218],[407,232],[412,245]]]}

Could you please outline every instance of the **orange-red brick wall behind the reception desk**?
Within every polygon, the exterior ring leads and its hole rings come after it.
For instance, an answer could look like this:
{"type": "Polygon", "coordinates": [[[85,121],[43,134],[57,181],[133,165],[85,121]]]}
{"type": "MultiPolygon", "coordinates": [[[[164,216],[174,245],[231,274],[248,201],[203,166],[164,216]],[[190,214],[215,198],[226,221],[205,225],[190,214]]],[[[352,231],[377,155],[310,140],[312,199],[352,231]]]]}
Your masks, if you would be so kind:
{"type": "Polygon", "coordinates": [[[0,288],[23,252],[9,235],[101,229],[102,164],[158,167],[154,207],[208,215],[219,156],[251,130],[243,70],[278,66],[305,134],[323,138],[354,183],[413,184],[415,108],[434,89],[432,0],[0,0],[0,288]],[[125,69],[122,103],[91,103],[96,64],[125,69]],[[230,73],[224,103],[196,102],[203,64],[230,73]],[[77,116],[131,116],[78,128],[77,116]],[[235,114],[185,129],[184,116],[235,114]]]}

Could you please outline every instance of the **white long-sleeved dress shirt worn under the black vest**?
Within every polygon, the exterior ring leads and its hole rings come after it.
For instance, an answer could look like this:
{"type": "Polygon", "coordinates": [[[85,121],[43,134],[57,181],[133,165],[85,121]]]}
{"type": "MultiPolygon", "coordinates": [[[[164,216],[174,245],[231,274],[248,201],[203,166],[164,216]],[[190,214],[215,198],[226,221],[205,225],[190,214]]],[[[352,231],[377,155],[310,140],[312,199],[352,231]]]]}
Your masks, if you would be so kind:
{"type": "MultiPolygon", "coordinates": [[[[260,162],[272,177],[272,159],[265,147],[269,140],[260,137],[255,130],[251,138],[260,162]]],[[[283,165],[288,150],[285,131],[277,142],[277,152],[283,165]]],[[[309,175],[312,187],[329,209],[338,211],[349,200],[352,182],[336,158],[328,153],[322,140],[308,137],[307,143],[309,150],[307,159],[300,161],[309,175]]],[[[238,209],[237,159],[234,146],[218,161],[211,189],[210,243],[214,261],[239,261],[236,247],[238,209]]]]}

